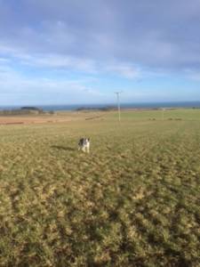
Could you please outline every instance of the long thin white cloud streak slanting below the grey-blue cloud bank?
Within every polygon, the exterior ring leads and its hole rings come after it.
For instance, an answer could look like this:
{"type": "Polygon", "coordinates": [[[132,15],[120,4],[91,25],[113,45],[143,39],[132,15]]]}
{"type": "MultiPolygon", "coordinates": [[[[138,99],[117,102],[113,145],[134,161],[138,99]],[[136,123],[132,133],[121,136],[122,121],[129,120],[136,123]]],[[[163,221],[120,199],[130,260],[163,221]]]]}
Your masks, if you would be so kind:
{"type": "MultiPolygon", "coordinates": [[[[34,68],[67,69],[87,74],[115,74],[127,79],[142,77],[142,69],[130,63],[114,61],[95,61],[90,58],[73,57],[55,53],[26,53],[16,47],[0,44],[2,53],[10,54],[10,61],[19,61],[22,65],[34,68]]],[[[1,62],[1,58],[0,58],[1,62]]]]}

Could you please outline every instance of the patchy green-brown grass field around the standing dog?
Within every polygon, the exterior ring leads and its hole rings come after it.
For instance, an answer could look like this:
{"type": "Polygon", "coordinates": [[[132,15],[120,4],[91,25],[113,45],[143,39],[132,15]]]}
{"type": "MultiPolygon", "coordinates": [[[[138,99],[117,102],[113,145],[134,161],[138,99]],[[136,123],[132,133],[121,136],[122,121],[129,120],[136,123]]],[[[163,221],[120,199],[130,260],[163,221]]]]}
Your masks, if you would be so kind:
{"type": "Polygon", "coordinates": [[[0,266],[200,266],[200,110],[116,118],[0,126],[0,266]]]}

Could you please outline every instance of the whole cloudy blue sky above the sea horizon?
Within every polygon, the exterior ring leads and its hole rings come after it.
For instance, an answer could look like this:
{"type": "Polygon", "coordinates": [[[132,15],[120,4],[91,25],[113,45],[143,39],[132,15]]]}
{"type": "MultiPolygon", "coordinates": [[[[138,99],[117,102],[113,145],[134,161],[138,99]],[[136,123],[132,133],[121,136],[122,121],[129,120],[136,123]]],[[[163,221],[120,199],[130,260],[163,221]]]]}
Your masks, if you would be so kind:
{"type": "Polygon", "coordinates": [[[200,0],[0,0],[0,105],[200,101],[200,0]]]}

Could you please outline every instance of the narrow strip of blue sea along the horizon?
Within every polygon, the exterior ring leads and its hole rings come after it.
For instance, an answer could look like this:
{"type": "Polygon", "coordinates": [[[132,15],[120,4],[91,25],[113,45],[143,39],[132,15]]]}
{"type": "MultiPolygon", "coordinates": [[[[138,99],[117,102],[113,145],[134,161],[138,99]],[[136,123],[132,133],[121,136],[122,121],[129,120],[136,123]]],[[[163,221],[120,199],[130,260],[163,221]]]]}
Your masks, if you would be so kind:
{"type": "MultiPolygon", "coordinates": [[[[0,106],[0,110],[20,109],[24,106],[49,110],[76,110],[76,109],[99,109],[105,107],[116,107],[116,103],[106,104],[62,104],[62,105],[21,105],[0,106]]],[[[143,103],[121,103],[122,109],[158,109],[158,108],[200,108],[200,101],[173,101],[173,102],[143,102],[143,103]]]]}

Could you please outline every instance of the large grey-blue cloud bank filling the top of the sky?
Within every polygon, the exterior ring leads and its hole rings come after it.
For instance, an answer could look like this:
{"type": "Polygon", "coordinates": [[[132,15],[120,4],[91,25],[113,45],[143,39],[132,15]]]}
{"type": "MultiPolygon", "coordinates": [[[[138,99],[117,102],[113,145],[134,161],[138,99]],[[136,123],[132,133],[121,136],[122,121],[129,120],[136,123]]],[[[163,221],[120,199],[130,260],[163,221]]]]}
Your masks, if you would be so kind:
{"type": "MultiPolygon", "coordinates": [[[[18,53],[57,54],[67,58],[65,61],[115,59],[117,64],[145,68],[199,68],[199,0],[192,4],[188,0],[18,2],[20,8],[15,8],[13,1],[0,2],[4,52],[10,53],[6,47],[12,46],[18,53]]],[[[91,69],[88,62],[76,65],[91,69]]],[[[121,72],[134,77],[128,69],[121,72]]]]}

